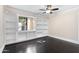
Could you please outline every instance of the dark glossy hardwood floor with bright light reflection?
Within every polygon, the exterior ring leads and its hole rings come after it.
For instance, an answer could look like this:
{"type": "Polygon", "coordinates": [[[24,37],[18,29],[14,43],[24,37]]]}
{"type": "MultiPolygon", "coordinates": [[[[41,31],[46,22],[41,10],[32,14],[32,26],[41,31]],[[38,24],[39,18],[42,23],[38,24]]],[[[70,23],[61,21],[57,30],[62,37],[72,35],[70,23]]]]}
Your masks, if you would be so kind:
{"type": "Polygon", "coordinates": [[[45,36],[6,45],[3,53],[79,53],[79,44],[45,36]]]}

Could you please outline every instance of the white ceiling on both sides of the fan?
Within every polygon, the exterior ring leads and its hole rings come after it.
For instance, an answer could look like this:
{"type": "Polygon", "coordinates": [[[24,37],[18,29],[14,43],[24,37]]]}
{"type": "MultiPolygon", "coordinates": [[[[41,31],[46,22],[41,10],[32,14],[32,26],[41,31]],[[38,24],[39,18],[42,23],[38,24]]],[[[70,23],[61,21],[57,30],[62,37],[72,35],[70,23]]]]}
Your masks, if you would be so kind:
{"type": "MultiPolygon", "coordinates": [[[[39,9],[46,7],[45,5],[10,5],[10,6],[34,13],[41,13],[42,11],[40,11],[39,9]]],[[[56,5],[56,6],[53,5],[53,7],[58,7],[60,11],[63,11],[63,10],[79,7],[79,5],[56,5]]]]}

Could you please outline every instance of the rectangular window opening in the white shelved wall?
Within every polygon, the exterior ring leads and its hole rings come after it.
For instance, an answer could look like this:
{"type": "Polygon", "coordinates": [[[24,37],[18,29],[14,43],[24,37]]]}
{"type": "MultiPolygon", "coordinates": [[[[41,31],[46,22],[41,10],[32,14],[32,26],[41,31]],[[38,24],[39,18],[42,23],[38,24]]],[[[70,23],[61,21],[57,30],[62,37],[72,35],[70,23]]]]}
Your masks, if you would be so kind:
{"type": "Polygon", "coordinates": [[[36,21],[34,17],[18,16],[18,31],[35,31],[36,21]]]}

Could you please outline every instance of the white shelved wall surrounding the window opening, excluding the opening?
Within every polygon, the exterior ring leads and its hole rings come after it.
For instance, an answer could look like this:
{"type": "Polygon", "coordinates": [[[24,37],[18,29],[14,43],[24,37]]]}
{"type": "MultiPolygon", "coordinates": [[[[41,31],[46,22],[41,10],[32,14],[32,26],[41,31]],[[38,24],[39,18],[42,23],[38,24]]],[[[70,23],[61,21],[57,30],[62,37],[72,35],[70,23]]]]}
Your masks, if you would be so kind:
{"type": "Polygon", "coordinates": [[[30,40],[48,34],[47,18],[33,12],[5,6],[5,39],[6,44],[30,40]],[[17,14],[36,17],[36,31],[18,32],[17,14]],[[7,25],[7,26],[6,26],[7,25]]]}

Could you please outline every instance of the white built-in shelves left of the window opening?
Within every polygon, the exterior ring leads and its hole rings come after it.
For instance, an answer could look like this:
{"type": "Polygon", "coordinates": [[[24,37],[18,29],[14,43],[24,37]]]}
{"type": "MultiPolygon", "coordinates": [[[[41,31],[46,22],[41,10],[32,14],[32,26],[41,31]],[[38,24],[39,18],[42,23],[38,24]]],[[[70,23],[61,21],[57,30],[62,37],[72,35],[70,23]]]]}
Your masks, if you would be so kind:
{"type": "Polygon", "coordinates": [[[6,44],[15,42],[16,40],[16,16],[14,13],[5,10],[4,12],[4,34],[6,44]]]}

